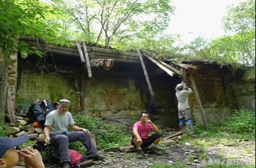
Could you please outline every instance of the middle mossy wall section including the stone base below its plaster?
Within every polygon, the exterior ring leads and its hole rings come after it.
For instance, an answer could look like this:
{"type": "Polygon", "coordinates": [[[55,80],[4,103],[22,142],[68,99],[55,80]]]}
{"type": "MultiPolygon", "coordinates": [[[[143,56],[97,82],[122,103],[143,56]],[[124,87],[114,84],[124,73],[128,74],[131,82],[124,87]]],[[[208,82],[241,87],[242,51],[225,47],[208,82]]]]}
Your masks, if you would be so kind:
{"type": "Polygon", "coordinates": [[[142,109],[140,90],[135,80],[90,78],[86,82],[84,107],[96,116],[129,120],[142,109]]]}

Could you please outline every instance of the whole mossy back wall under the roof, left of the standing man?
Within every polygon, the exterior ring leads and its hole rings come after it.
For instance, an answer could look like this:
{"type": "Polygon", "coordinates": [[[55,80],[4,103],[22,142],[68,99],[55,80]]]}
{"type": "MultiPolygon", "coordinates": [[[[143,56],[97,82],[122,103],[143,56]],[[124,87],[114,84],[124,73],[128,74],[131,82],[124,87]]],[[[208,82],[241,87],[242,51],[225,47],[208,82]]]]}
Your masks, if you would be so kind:
{"type": "MultiPolygon", "coordinates": [[[[79,110],[79,73],[76,74],[78,77],[60,72],[41,74],[34,64],[28,61],[20,61],[18,71],[18,108],[28,107],[34,99],[49,99],[56,102],[66,98],[71,100],[73,112],[79,110]]],[[[66,71],[70,71],[69,67],[66,67],[66,71]]],[[[148,86],[143,81],[145,78],[113,78],[108,77],[107,73],[103,77],[94,75],[93,78],[86,78],[84,114],[133,123],[145,109],[148,99],[148,86]]],[[[175,126],[178,123],[178,114],[174,84],[169,85],[172,81],[168,76],[161,81],[153,78],[151,80],[156,94],[153,101],[157,109],[155,118],[159,118],[156,123],[175,126]]]]}

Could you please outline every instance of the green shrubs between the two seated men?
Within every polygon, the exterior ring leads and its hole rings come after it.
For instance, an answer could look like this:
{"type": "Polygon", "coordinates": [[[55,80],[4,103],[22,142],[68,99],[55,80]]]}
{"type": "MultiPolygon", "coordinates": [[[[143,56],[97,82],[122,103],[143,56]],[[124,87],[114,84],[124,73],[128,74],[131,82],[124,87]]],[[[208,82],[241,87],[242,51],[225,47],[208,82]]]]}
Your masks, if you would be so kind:
{"type": "Polygon", "coordinates": [[[73,115],[75,123],[85,129],[89,129],[90,134],[95,134],[97,148],[110,148],[127,145],[130,143],[132,133],[127,132],[124,124],[110,124],[101,118],[84,115],[81,113],[73,115]]]}

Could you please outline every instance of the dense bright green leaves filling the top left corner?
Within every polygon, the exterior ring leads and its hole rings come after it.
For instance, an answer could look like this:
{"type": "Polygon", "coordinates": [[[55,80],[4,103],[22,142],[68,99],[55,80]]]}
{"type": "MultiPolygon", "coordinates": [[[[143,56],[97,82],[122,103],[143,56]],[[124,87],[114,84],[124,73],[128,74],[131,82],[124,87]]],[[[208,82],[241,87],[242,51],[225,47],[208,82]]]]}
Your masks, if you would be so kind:
{"type": "Polygon", "coordinates": [[[0,1],[0,48],[4,53],[18,49],[23,53],[42,55],[38,48],[28,48],[18,38],[29,35],[47,42],[60,42],[58,31],[61,25],[56,22],[60,17],[63,15],[57,7],[39,0],[0,1]]]}

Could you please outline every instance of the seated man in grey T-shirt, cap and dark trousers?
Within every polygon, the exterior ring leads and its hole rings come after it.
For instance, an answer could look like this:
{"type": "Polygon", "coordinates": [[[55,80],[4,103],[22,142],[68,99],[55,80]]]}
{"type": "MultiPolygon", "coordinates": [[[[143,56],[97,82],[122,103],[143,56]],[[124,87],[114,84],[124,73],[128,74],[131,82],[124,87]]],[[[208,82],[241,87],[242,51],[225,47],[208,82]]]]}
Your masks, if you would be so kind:
{"type": "Polygon", "coordinates": [[[70,101],[62,99],[59,108],[50,112],[46,116],[44,124],[45,142],[58,145],[60,151],[60,166],[70,167],[70,157],[68,155],[68,143],[81,140],[86,147],[89,159],[103,160],[104,157],[98,155],[98,151],[92,142],[90,132],[87,129],[79,128],[74,125],[74,120],[70,112],[70,101]],[[68,126],[74,131],[68,132],[68,126]]]}

